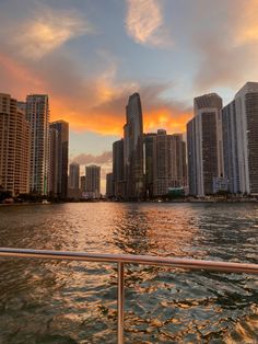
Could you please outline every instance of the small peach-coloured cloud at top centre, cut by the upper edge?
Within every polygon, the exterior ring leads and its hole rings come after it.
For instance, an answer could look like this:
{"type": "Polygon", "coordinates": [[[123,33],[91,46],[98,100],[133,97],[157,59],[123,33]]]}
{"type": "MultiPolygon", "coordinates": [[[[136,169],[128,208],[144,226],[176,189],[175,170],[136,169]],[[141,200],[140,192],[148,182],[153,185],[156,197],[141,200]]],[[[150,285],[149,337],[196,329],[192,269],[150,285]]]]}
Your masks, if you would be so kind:
{"type": "Polygon", "coordinates": [[[161,1],[127,0],[126,28],[137,43],[167,47],[172,41],[163,27],[161,1]]]}

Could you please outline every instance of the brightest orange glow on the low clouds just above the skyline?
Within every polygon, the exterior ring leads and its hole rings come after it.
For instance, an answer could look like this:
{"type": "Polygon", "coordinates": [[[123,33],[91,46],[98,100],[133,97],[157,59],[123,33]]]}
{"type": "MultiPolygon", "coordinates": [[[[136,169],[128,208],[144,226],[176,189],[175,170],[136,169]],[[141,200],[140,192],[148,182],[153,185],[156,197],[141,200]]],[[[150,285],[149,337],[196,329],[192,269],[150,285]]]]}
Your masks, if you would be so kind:
{"type": "MultiPolygon", "coordinates": [[[[50,102],[51,121],[64,119],[69,122],[71,129],[82,131],[91,130],[103,135],[122,136],[122,127],[126,123],[125,105],[121,101],[110,105],[114,99],[129,96],[129,88],[124,85],[119,90],[106,76],[98,78],[92,84],[91,96],[62,96],[55,94],[55,90],[48,90],[47,80],[38,78],[35,72],[14,59],[0,54],[0,64],[13,79],[10,93],[19,100],[25,100],[28,93],[47,93],[50,102]]],[[[4,90],[1,90],[4,91],[4,90]]],[[[148,104],[143,104],[144,107],[148,104]]],[[[191,114],[173,111],[168,106],[153,106],[143,112],[144,130],[154,131],[164,128],[168,133],[185,131],[186,122],[191,114]]]]}

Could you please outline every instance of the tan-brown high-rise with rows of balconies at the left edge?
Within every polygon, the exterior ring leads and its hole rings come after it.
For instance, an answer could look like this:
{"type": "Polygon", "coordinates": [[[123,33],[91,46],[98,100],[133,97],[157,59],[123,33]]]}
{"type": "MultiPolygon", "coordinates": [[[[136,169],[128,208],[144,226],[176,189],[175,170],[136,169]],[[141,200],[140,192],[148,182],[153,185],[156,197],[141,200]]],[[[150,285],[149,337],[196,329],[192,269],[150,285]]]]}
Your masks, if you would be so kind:
{"type": "Polygon", "coordinates": [[[30,126],[16,100],[0,93],[0,185],[12,196],[28,193],[30,126]]]}

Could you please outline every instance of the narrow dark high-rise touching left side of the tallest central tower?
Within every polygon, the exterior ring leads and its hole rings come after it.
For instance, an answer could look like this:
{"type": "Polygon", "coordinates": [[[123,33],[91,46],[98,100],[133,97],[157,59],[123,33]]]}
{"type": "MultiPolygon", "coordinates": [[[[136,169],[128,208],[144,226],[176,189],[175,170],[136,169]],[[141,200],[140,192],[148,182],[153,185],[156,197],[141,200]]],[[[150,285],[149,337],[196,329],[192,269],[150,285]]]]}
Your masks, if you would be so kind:
{"type": "Polygon", "coordinates": [[[113,144],[113,181],[114,195],[117,198],[125,197],[125,175],[124,175],[124,139],[113,144]]]}

